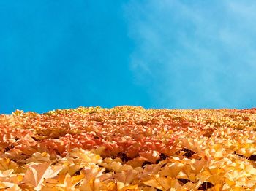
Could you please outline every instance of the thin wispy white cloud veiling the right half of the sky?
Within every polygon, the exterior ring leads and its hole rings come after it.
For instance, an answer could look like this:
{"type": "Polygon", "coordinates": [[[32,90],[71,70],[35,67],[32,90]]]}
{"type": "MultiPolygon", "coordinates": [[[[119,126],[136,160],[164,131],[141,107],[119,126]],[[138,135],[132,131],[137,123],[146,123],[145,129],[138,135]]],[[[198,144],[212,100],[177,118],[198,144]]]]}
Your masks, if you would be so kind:
{"type": "Polygon", "coordinates": [[[256,104],[255,8],[254,1],[129,1],[130,66],[152,105],[256,104]]]}

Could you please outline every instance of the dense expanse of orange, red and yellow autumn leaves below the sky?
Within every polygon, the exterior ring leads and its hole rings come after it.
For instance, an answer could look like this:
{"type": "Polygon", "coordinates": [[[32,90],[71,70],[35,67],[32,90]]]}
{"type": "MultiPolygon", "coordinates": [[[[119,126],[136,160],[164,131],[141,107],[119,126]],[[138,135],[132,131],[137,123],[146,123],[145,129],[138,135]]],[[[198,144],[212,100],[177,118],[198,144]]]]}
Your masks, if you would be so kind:
{"type": "Polygon", "coordinates": [[[0,190],[256,190],[256,109],[0,115],[0,190]]]}

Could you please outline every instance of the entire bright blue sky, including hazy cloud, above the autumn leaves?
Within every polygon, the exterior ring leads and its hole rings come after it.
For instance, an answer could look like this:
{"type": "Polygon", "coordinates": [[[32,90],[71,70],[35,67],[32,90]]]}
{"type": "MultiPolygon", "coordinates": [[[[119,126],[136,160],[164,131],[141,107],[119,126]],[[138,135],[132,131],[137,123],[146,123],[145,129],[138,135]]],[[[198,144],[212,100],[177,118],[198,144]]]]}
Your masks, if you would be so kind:
{"type": "Polygon", "coordinates": [[[0,113],[256,106],[255,1],[0,1],[0,113]]]}

